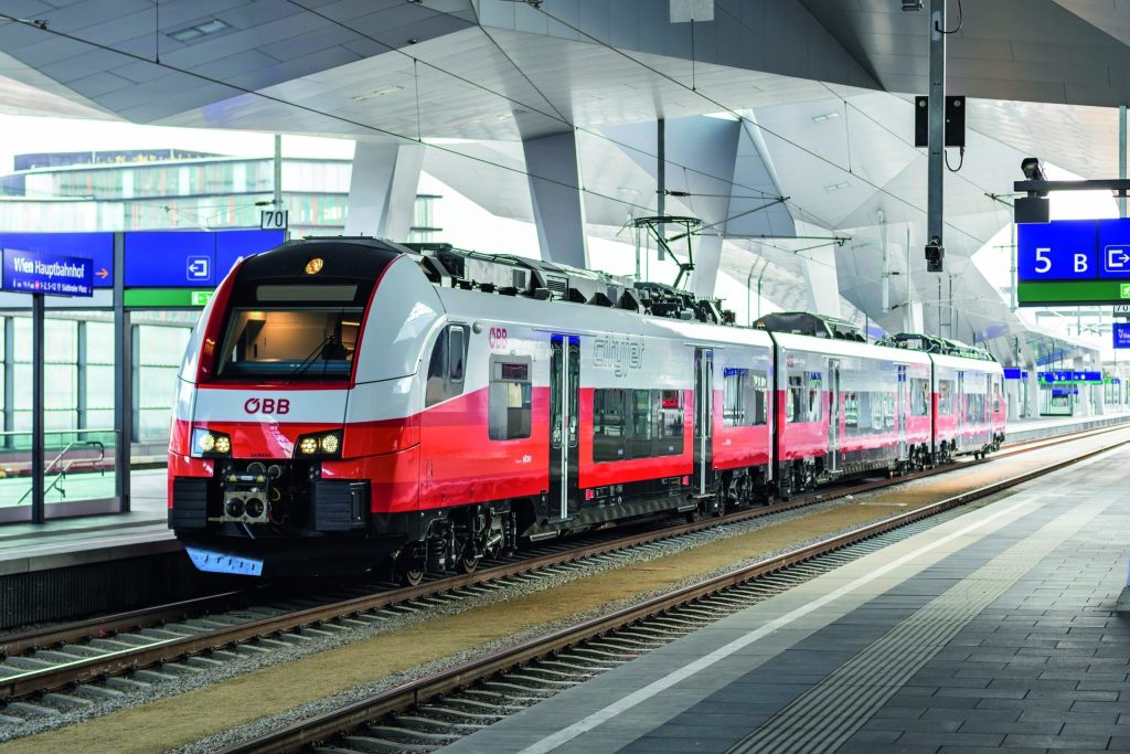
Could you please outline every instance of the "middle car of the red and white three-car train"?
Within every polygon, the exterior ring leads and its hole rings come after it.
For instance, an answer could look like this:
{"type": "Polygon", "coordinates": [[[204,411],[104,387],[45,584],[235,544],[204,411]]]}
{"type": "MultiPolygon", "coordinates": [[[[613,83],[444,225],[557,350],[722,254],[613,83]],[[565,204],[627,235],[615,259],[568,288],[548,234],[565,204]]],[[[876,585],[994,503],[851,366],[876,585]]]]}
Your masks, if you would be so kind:
{"type": "Polygon", "coordinates": [[[845,322],[803,312],[760,318],[776,345],[777,492],[930,462],[931,363],[870,345],[845,322]]]}

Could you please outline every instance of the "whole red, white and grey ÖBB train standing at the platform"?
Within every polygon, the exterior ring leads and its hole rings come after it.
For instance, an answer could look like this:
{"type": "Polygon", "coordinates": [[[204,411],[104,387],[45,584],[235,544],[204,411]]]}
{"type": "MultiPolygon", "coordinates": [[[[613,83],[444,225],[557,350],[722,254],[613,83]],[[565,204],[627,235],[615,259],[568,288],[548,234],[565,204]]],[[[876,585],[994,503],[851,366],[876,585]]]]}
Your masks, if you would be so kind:
{"type": "Polygon", "coordinates": [[[694,519],[1005,439],[986,352],[548,261],[371,237],[241,260],[177,376],[168,521],[202,571],[389,566],[694,519]]]}

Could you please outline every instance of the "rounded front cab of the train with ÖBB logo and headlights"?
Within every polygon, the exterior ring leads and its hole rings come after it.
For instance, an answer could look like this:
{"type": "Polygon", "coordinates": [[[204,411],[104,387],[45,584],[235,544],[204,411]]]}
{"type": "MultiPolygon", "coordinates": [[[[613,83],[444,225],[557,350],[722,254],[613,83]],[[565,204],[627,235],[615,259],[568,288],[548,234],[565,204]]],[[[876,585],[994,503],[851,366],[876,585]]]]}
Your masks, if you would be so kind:
{"type": "Polygon", "coordinates": [[[395,547],[374,532],[418,509],[415,373],[442,315],[381,242],[292,242],[229,274],[192,336],[169,443],[169,525],[198,567],[357,571],[395,547]]]}

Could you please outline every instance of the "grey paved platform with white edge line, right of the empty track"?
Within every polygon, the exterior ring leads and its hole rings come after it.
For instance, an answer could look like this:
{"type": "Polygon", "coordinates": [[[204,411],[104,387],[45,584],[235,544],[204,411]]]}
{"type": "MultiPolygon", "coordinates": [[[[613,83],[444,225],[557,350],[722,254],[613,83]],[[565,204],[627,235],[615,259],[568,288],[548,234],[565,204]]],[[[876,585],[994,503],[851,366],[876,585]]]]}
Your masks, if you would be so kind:
{"type": "Polygon", "coordinates": [[[1128,463],[1023,485],[444,751],[1130,749],[1128,463]]]}

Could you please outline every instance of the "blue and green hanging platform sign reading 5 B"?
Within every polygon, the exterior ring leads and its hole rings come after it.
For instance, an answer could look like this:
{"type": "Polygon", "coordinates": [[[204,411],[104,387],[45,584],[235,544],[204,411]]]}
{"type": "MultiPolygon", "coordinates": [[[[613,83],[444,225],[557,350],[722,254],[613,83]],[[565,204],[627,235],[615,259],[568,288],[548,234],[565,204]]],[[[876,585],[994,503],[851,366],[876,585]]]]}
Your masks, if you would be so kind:
{"type": "Polygon", "coordinates": [[[1130,219],[1019,225],[1017,271],[1022,306],[1130,302],[1130,219]]]}

